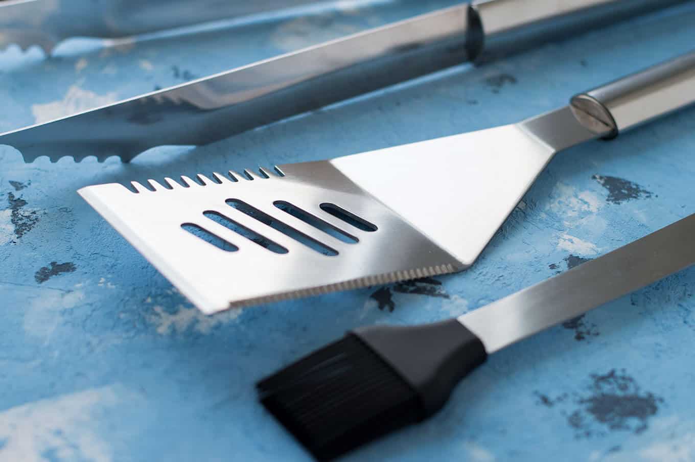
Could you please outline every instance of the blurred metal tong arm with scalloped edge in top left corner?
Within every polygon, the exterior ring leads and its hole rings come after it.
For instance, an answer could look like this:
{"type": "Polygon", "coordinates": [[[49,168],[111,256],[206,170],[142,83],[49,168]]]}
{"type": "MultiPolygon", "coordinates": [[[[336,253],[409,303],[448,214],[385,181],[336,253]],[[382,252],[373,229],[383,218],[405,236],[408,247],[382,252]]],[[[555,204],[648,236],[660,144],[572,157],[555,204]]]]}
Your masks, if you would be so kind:
{"type": "Polygon", "coordinates": [[[0,50],[38,45],[50,53],[71,37],[125,38],[317,1],[6,0],[0,3],[0,50]]]}

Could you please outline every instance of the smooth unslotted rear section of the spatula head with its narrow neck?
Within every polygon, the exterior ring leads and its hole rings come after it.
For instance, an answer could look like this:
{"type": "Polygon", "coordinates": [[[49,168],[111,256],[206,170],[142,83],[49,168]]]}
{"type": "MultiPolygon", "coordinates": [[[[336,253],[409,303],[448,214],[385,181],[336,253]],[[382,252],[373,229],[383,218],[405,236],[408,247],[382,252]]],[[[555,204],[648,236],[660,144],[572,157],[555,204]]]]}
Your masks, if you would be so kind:
{"type": "Polygon", "coordinates": [[[331,163],[468,267],[553,155],[596,136],[566,107],[331,163]]]}

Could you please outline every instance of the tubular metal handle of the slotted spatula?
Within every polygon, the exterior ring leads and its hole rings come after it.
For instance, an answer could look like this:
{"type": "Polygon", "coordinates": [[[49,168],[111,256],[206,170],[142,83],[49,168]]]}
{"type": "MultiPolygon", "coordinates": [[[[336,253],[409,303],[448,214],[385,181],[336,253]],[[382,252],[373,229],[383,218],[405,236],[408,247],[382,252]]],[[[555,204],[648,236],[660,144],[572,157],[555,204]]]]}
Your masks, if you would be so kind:
{"type": "Polygon", "coordinates": [[[619,132],[695,103],[695,51],[572,98],[575,116],[596,133],[619,132]]]}

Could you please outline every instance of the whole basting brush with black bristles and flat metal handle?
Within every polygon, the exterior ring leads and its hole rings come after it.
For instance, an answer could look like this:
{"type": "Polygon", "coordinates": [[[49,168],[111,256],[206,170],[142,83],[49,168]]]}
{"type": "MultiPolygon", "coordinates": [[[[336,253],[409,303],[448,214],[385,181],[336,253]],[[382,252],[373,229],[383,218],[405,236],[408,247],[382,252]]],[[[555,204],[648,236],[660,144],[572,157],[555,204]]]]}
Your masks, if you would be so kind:
{"type": "Polygon", "coordinates": [[[461,317],[350,331],[258,383],[320,461],[429,418],[488,354],[695,263],[695,214],[461,317]]]}

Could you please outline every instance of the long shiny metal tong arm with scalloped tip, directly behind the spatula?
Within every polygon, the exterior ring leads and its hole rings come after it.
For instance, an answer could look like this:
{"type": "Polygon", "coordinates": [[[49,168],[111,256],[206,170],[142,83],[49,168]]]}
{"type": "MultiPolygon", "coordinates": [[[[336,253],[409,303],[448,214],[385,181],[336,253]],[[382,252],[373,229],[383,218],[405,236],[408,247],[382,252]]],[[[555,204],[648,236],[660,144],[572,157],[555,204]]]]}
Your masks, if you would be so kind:
{"type": "Polygon", "coordinates": [[[0,144],[19,149],[26,162],[39,156],[128,162],[158,145],[206,145],[466,60],[495,58],[683,1],[473,1],[2,133],[0,144]]]}

